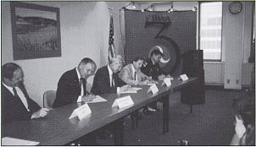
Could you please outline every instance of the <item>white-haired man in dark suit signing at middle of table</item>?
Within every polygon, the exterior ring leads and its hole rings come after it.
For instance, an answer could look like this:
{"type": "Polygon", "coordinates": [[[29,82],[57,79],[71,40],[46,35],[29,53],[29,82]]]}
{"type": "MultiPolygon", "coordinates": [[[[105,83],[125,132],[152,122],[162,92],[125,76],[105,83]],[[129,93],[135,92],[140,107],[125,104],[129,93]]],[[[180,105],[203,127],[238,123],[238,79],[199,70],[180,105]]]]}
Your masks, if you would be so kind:
{"type": "Polygon", "coordinates": [[[131,87],[126,84],[116,75],[123,67],[123,58],[117,55],[113,57],[107,66],[99,68],[94,76],[92,90],[94,95],[103,93],[118,93],[128,90],[131,87]]]}

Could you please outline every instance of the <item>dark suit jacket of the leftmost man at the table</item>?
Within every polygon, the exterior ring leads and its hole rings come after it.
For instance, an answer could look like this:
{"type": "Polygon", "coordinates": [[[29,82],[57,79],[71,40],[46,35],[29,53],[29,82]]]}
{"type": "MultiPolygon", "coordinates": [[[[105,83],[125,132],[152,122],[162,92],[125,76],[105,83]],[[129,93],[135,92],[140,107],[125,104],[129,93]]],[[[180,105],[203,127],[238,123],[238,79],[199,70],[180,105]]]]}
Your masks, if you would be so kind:
{"type": "Polygon", "coordinates": [[[33,112],[37,112],[41,109],[40,106],[32,101],[27,91],[25,90],[24,84],[19,84],[19,89],[25,95],[28,103],[28,108],[31,112],[28,112],[19,98],[14,95],[1,84],[1,99],[2,99],[2,123],[8,123],[15,120],[30,120],[33,112]]]}

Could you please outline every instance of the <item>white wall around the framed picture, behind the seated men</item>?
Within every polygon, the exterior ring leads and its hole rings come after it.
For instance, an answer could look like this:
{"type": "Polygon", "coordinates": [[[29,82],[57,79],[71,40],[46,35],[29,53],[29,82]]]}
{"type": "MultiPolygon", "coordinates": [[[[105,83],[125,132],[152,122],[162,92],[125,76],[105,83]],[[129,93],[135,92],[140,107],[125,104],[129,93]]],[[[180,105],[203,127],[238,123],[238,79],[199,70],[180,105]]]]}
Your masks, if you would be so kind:
{"type": "MultiPolygon", "coordinates": [[[[2,65],[14,62],[23,68],[26,89],[42,106],[44,91],[56,90],[61,74],[75,68],[83,57],[91,57],[97,67],[107,63],[109,9],[106,2],[29,3],[60,8],[62,55],[14,61],[9,2],[2,2],[2,65]]],[[[92,84],[92,78],[89,83],[92,84]]]]}

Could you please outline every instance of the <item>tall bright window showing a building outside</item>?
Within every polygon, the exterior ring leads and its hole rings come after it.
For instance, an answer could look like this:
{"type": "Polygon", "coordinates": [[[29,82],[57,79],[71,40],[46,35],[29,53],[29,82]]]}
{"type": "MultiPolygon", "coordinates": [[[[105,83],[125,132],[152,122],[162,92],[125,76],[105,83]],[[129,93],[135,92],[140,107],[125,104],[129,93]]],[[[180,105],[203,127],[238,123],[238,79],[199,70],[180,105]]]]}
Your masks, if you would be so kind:
{"type": "Polygon", "coordinates": [[[204,61],[221,61],[222,3],[200,3],[199,46],[204,61]]]}

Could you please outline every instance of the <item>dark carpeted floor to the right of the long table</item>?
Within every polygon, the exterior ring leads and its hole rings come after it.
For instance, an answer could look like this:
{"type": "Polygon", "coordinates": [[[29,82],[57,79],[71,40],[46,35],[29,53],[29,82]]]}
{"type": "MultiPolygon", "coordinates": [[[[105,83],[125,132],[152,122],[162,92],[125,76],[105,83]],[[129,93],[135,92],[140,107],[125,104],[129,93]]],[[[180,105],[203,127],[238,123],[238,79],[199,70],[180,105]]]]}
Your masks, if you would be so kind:
{"type": "MultiPolygon", "coordinates": [[[[187,140],[189,145],[229,145],[235,133],[232,100],[242,96],[255,97],[244,90],[205,90],[205,104],[182,104],[181,93],[170,97],[170,131],[162,133],[162,104],[160,112],[142,116],[138,128],[131,128],[131,118],[125,118],[125,145],[179,145],[187,140]]],[[[97,139],[100,145],[113,145],[113,139],[97,139]]]]}

